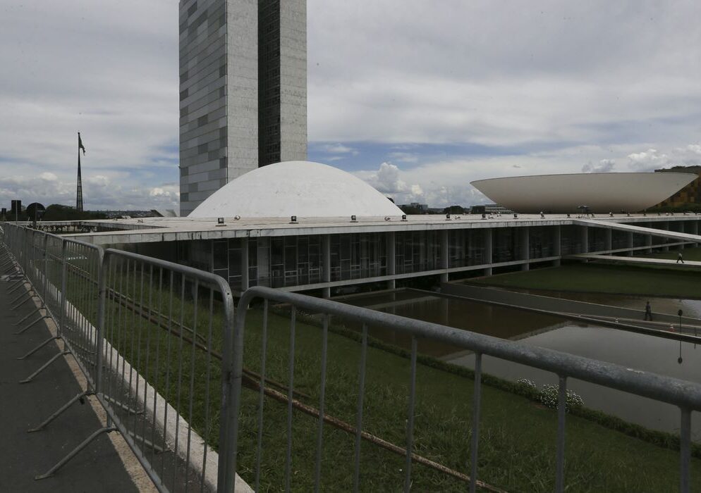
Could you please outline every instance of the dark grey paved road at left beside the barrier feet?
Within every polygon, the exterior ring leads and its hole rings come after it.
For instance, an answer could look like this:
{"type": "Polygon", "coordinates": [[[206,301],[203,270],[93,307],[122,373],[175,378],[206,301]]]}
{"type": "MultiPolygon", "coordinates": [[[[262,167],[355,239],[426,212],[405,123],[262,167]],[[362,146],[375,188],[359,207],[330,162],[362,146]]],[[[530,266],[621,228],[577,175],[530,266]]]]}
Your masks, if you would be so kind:
{"type": "Polygon", "coordinates": [[[46,430],[27,432],[78,394],[80,387],[62,357],[34,381],[18,383],[59,349],[51,342],[26,360],[16,359],[47,339],[49,330],[41,322],[23,335],[13,335],[19,328],[13,324],[35,306],[27,301],[12,310],[10,301],[19,291],[8,295],[7,287],[8,282],[0,280],[0,492],[138,491],[107,435],[95,439],[54,477],[34,479],[102,425],[89,404],[76,403],[46,430]]]}

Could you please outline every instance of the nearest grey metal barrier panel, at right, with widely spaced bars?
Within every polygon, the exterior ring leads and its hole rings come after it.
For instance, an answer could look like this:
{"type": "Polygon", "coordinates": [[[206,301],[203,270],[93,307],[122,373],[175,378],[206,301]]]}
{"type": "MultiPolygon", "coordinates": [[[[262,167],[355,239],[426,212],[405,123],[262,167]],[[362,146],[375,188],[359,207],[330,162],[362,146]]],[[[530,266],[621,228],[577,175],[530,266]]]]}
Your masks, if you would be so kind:
{"type": "MultiPolygon", "coordinates": [[[[637,394],[642,397],[648,397],[655,401],[662,401],[668,404],[678,406],[681,411],[681,454],[680,454],[680,488],[682,492],[688,492],[690,488],[690,428],[691,428],[691,411],[701,411],[701,385],[684,380],[678,380],[671,377],[663,377],[651,373],[642,373],[637,370],[618,366],[613,363],[605,363],[595,361],[580,356],[542,349],[540,347],[530,347],[518,342],[512,342],[496,337],[480,335],[465,330],[458,330],[452,327],[427,323],[420,320],[403,318],[394,316],[389,313],[372,311],[367,308],[341,304],[334,301],[308,297],[301,294],[281,292],[268,287],[252,287],[243,294],[238,304],[236,316],[236,335],[235,335],[235,360],[240,362],[240,354],[243,352],[243,337],[246,330],[247,308],[255,299],[264,300],[264,315],[262,332],[260,335],[260,348],[248,347],[245,348],[246,353],[250,351],[260,351],[260,401],[257,406],[257,449],[255,450],[255,489],[257,490],[260,484],[261,475],[261,456],[264,454],[262,447],[262,430],[266,428],[263,418],[263,396],[264,396],[264,381],[266,374],[266,354],[267,344],[269,343],[270,333],[267,327],[268,311],[270,303],[288,304],[291,306],[290,316],[290,335],[288,345],[288,416],[286,430],[275,430],[281,436],[286,436],[286,462],[284,464],[284,485],[275,485],[279,489],[288,491],[291,488],[293,473],[291,464],[293,462],[293,403],[295,399],[293,394],[294,377],[295,377],[295,327],[296,313],[298,311],[307,311],[309,313],[321,314],[323,324],[321,329],[320,361],[321,368],[319,370],[319,378],[315,385],[319,385],[319,404],[314,413],[307,413],[315,416],[318,420],[317,440],[316,440],[316,460],[314,465],[314,483],[315,488],[319,488],[320,472],[322,464],[322,449],[324,448],[324,423],[327,416],[324,413],[324,406],[328,399],[334,399],[339,396],[326,396],[326,376],[327,376],[327,334],[328,334],[328,317],[340,316],[343,320],[351,320],[362,324],[362,343],[360,356],[359,370],[359,388],[358,401],[355,409],[357,422],[355,427],[346,428],[347,432],[355,434],[355,456],[353,463],[353,491],[359,489],[360,475],[360,439],[363,426],[363,397],[365,392],[365,361],[367,354],[367,329],[368,327],[383,327],[394,330],[397,334],[408,335],[411,340],[410,353],[410,381],[408,382],[408,411],[401,418],[406,420],[406,444],[403,448],[403,454],[406,458],[403,468],[404,482],[403,489],[405,492],[410,491],[412,485],[412,463],[417,460],[414,449],[414,420],[415,420],[415,402],[416,395],[416,370],[417,370],[417,339],[429,339],[434,342],[442,342],[449,344],[458,349],[467,349],[475,354],[475,380],[473,393],[473,414],[472,414],[472,433],[470,439],[470,458],[469,466],[466,464],[466,469],[469,470],[469,478],[463,475],[463,480],[469,480],[470,492],[475,492],[479,486],[489,489],[489,485],[485,485],[477,479],[477,461],[479,458],[480,444],[480,395],[482,388],[482,356],[493,356],[507,361],[513,361],[533,368],[540,368],[554,373],[559,379],[559,405],[558,405],[558,425],[556,438],[556,478],[555,489],[557,492],[563,492],[565,489],[564,482],[564,457],[565,457],[565,414],[566,414],[566,391],[567,379],[576,378],[585,382],[592,382],[597,385],[618,389],[623,392],[637,394]]],[[[268,346],[269,347],[269,346],[268,346]]],[[[256,354],[258,354],[256,352],[256,354]]],[[[236,368],[236,375],[240,375],[240,366],[236,368]]],[[[306,382],[309,386],[310,382],[306,382]]],[[[418,396],[420,397],[420,396],[418,396]]],[[[237,403],[231,406],[231,412],[236,412],[237,403]]],[[[237,429],[237,425],[234,425],[237,429]]],[[[268,427],[269,429],[269,427],[268,427]]],[[[270,431],[269,431],[270,432],[270,431]]],[[[236,437],[234,437],[235,439],[236,437]]],[[[465,437],[467,440],[468,437],[465,437]]],[[[236,447],[236,442],[234,442],[236,447]]],[[[395,452],[399,447],[395,448],[395,452]]],[[[283,467],[282,464],[279,465],[283,467]]]]}

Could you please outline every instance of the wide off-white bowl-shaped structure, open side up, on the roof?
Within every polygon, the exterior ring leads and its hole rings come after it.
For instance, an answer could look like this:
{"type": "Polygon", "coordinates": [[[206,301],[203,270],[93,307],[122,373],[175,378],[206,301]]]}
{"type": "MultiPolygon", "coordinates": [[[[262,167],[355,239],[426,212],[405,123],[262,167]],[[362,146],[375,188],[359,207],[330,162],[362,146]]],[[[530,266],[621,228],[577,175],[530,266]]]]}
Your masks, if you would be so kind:
{"type": "Polygon", "coordinates": [[[490,178],[471,182],[514,212],[639,212],[667,199],[698,176],[693,173],[581,173],[490,178]]]}

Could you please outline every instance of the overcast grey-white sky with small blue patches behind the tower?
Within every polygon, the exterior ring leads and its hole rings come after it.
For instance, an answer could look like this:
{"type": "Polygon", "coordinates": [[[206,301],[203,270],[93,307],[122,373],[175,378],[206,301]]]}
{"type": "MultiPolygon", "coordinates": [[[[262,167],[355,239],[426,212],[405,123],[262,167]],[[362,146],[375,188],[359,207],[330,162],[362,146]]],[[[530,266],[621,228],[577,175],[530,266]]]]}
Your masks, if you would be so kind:
{"type": "MultiPolygon", "coordinates": [[[[701,3],[309,0],[309,158],[398,203],[701,164],[701,3]]],[[[0,205],[178,204],[178,2],[0,0],[0,205]]]]}

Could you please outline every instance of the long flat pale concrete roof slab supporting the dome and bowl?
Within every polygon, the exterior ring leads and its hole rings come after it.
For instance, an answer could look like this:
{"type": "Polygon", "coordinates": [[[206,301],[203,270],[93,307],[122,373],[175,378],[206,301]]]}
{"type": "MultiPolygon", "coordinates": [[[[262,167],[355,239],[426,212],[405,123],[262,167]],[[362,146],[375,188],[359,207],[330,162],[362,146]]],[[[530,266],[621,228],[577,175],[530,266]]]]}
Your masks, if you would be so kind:
{"type": "Polygon", "coordinates": [[[45,223],[46,225],[70,226],[80,224],[85,227],[118,229],[118,231],[86,232],[66,235],[93,244],[127,244],[172,242],[195,239],[224,239],[240,237],[278,237],[294,235],[322,235],[353,232],[389,232],[479,229],[485,227],[523,227],[581,224],[590,220],[590,225],[597,223],[657,223],[669,220],[701,220],[695,214],[657,215],[648,214],[614,214],[567,217],[565,214],[519,214],[487,216],[482,219],[478,214],[453,215],[446,219],[443,215],[407,216],[405,221],[399,217],[358,217],[351,221],[344,218],[303,218],[295,223],[290,218],[224,218],[224,224],[218,225],[217,218],[132,218],[114,220],[83,220],[71,222],[45,223]]]}

